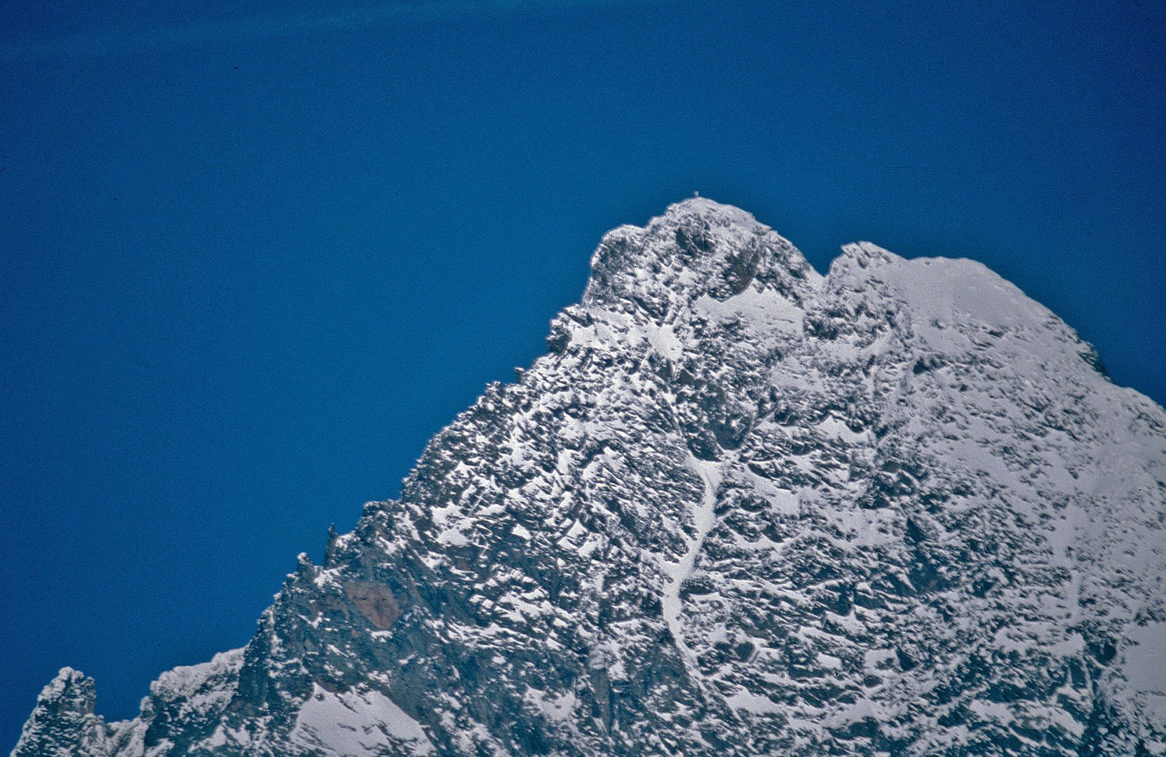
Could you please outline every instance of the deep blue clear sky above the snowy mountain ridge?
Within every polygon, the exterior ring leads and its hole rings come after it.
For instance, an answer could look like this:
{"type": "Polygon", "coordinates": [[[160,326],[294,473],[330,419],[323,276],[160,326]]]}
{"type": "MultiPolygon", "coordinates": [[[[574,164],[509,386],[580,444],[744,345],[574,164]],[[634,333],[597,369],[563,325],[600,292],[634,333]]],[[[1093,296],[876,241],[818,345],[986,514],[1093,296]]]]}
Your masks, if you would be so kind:
{"type": "Polygon", "coordinates": [[[694,190],[1166,399],[1161,2],[140,5],[0,9],[0,749],[62,665],[120,719],[245,644],[694,190]]]}

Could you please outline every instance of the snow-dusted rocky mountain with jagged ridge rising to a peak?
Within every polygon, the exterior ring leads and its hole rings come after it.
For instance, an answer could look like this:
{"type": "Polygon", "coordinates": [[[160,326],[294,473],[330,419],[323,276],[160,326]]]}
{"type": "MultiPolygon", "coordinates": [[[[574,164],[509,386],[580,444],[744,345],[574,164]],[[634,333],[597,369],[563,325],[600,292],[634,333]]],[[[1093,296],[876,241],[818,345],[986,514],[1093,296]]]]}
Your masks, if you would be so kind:
{"type": "Polygon", "coordinates": [[[968,260],[707,199],[134,721],[15,755],[1166,752],[1166,413],[968,260]]]}

